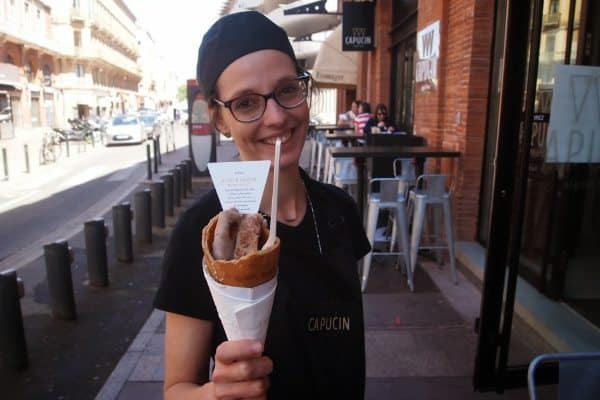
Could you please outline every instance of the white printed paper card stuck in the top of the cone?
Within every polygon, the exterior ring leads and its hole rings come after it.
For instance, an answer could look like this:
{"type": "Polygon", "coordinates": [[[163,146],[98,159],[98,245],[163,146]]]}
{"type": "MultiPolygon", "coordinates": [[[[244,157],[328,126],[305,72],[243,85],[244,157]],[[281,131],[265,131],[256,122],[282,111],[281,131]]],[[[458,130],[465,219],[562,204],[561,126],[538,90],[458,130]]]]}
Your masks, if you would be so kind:
{"type": "Polygon", "coordinates": [[[223,210],[257,213],[270,166],[269,160],[208,163],[223,210]]]}

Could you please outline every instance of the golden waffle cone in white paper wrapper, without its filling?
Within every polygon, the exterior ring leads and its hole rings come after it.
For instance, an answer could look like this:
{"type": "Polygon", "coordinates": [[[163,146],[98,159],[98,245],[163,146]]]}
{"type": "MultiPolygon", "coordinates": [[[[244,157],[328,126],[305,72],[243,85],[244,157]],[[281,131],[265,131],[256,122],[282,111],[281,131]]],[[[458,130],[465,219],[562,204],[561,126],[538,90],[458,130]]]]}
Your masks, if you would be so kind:
{"type": "MultiPolygon", "coordinates": [[[[212,256],[217,217],[202,230],[203,272],[229,340],[255,339],[264,343],[275,289],[280,241],[235,260],[212,256]]],[[[263,228],[259,248],[269,232],[263,228]]]]}

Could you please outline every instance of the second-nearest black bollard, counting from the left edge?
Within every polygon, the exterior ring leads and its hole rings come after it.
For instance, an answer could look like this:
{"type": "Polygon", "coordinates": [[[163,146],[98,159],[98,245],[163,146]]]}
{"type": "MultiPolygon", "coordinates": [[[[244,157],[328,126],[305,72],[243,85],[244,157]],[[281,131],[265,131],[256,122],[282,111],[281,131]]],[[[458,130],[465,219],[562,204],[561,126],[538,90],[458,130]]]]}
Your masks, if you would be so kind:
{"type": "Polygon", "coordinates": [[[66,240],[49,243],[44,246],[46,275],[50,292],[52,316],[58,319],[75,319],[75,295],[71,264],[73,251],[66,240]]]}

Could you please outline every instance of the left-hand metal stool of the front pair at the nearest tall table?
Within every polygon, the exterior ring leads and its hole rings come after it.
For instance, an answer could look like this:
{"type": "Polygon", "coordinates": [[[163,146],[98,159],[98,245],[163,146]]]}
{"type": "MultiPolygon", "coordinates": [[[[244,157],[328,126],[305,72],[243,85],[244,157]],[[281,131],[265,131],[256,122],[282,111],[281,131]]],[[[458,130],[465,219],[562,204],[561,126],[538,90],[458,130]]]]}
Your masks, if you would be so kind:
{"type": "Polygon", "coordinates": [[[414,290],[413,275],[410,264],[409,240],[408,240],[408,217],[406,215],[406,193],[408,186],[403,178],[374,178],[369,181],[369,187],[373,183],[379,183],[379,192],[369,194],[369,209],[367,213],[367,238],[371,242],[371,251],[363,260],[361,290],[364,291],[367,287],[369,272],[371,269],[371,259],[374,255],[398,256],[396,268],[399,267],[400,255],[404,256],[404,264],[406,266],[406,277],[408,287],[411,291],[414,290]],[[390,243],[390,251],[377,252],[375,251],[375,231],[377,229],[377,219],[380,210],[389,210],[394,215],[394,229],[392,240],[390,243]],[[400,243],[402,251],[393,251],[394,242],[396,241],[395,231],[400,233],[400,243]]]}

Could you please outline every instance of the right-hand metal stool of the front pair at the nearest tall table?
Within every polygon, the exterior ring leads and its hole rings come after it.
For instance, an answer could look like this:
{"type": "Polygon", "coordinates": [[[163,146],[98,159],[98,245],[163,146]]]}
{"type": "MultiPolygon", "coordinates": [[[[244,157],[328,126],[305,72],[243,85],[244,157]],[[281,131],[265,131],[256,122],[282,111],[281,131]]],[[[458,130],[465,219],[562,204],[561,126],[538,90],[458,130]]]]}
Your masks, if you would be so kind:
{"type": "MultiPolygon", "coordinates": [[[[452,187],[448,185],[448,175],[421,175],[417,178],[414,190],[410,191],[409,204],[412,210],[412,234],[410,245],[411,272],[414,274],[417,264],[417,254],[420,249],[448,249],[450,254],[450,267],[454,283],[458,283],[456,275],[456,259],[454,256],[454,229],[452,225],[452,210],[450,205],[452,187]],[[425,223],[427,207],[441,206],[444,214],[446,228],[446,245],[421,245],[421,234],[425,223]]],[[[432,211],[435,211],[433,209],[432,211]]],[[[440,236],[439,218],[434,219],[434,236],[440,236]]]]}

